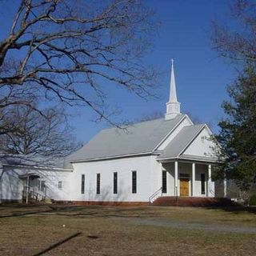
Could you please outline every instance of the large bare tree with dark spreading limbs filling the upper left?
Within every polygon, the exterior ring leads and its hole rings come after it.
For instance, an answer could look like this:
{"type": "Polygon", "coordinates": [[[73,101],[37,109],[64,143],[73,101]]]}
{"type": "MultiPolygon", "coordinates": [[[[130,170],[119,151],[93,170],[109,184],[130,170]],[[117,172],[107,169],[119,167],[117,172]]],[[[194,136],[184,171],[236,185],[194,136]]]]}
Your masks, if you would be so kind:
{"type": "Polygon", "coordinates": [[[20,0],[0,42],[1,107],[30,105],[18,97],[28,94],[89,106],[111,122],[106,82],[152,95],[156,72],[142,64],[152,15],[138,0],[20,0]]]}

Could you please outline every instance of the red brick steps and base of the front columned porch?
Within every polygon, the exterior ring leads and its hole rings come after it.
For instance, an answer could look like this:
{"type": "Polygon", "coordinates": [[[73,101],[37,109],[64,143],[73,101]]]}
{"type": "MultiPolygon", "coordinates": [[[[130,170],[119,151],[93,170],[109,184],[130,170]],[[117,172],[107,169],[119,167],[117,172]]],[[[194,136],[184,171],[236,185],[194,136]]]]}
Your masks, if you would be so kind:
{"type": "Polygon", "coordinates": [[[238,203],[231,201],[229,198],[160,197],[152,202],[151,206],[225,207],[238,206],[238,203]]]}

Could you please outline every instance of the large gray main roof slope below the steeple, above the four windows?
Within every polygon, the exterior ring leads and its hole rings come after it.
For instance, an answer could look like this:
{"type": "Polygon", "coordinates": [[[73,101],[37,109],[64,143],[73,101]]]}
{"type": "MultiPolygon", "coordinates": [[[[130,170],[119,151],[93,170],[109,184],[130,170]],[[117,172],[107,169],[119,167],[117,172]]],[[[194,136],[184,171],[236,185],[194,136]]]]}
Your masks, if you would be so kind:
{"type": "Polygon", "coordinates": [[[82,149],[70,156],[71,162],[111,158],[130,154],[150,153],[158,143],[184,118],[179,114],[176,118],[164,118],[148,122],[139,122],[126,130],[110,128],[101,130],[82,149]]]}

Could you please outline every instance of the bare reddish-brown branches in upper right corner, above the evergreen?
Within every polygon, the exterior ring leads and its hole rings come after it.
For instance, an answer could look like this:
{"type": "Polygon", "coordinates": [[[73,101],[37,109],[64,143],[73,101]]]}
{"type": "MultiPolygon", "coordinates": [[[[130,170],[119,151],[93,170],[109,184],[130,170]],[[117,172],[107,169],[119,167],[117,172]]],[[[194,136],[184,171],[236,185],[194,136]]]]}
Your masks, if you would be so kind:
{"type": "Polygon", "coordinates": [[[256,2],[235,0],[230,2],[230,24],[214,22],[211,42],[219,55],[232,61],[256,61],[256,2]]]}

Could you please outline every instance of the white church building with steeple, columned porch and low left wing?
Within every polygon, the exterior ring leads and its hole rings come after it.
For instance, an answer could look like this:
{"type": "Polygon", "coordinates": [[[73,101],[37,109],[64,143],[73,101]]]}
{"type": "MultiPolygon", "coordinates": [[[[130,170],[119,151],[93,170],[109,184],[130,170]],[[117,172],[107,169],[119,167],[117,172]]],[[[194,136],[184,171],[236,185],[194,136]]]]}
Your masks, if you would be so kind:
{"type": "Polygon", "coordinates": [[[172,62],[165,118],[100,131],[61,163],[2,162],[0,202],[55,200],[147,204],[158,197],[215,196],[218,158],[206,124],[180,112],[172,62]]]}

